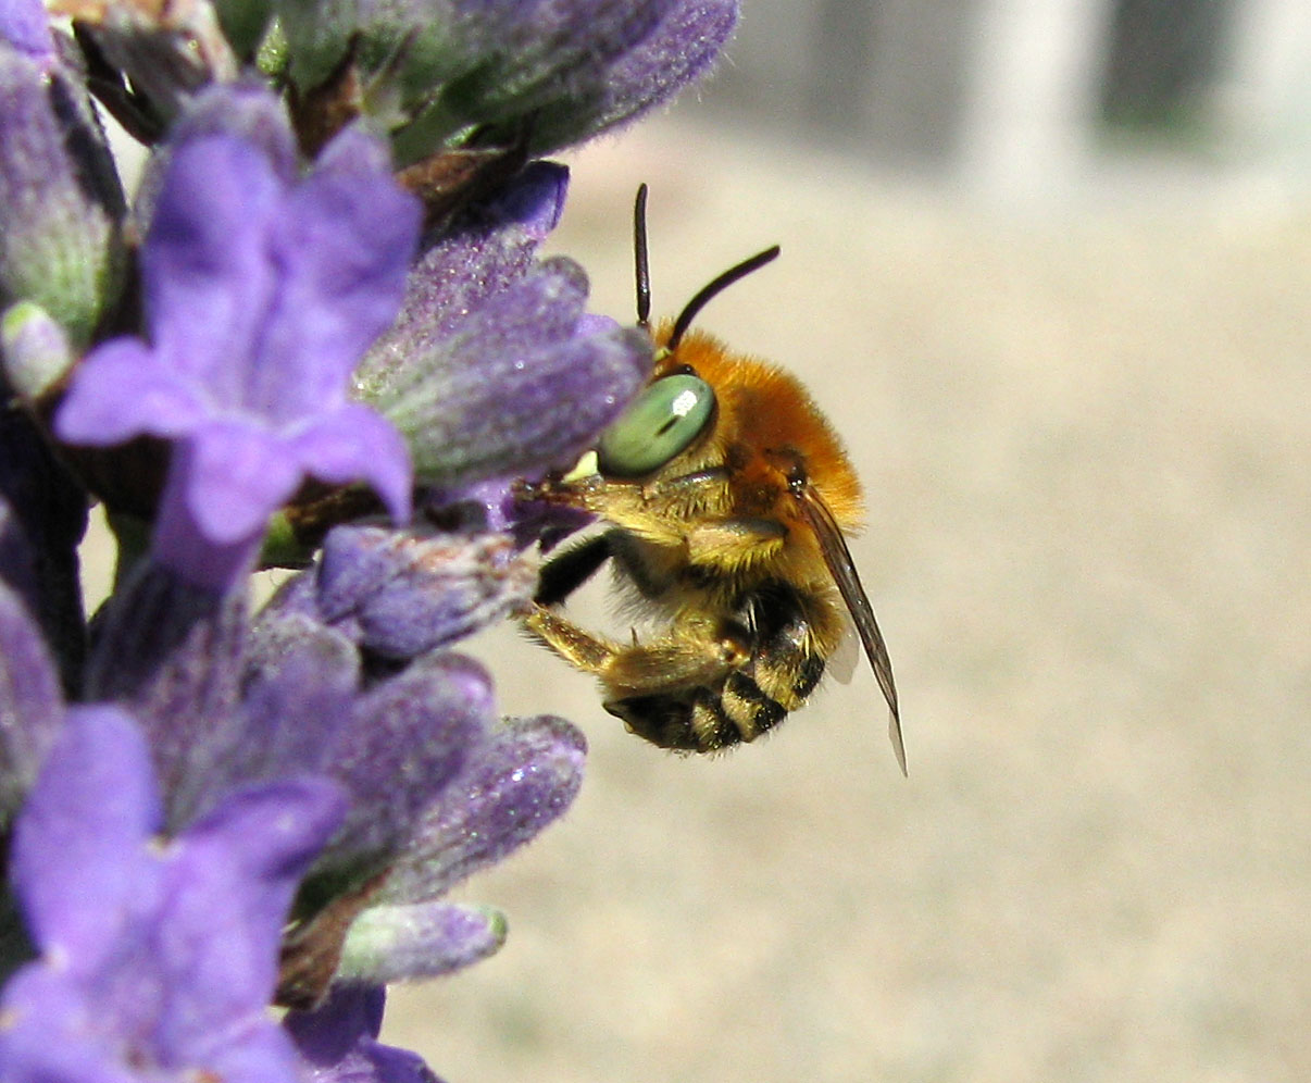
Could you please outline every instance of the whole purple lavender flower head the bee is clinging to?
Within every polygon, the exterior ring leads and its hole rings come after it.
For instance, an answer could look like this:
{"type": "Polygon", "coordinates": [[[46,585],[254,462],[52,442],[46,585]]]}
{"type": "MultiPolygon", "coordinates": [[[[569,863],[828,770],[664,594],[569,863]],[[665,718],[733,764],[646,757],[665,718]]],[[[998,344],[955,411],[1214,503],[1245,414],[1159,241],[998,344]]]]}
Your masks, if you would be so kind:
{"type": "Polygon", "coordinates": [[[531,159],[666,101],[734,17],[110,0],[67,35],[0,0],[5,1083],[434,1079],[378,1041],[384,987],[499,948],[448,893],[585,758],[452,648],[573,526],[515,482],[652,361],[539,257],[568,174],[531,159]],[[93,93],[147,144],[131,198],[93,93]]]}

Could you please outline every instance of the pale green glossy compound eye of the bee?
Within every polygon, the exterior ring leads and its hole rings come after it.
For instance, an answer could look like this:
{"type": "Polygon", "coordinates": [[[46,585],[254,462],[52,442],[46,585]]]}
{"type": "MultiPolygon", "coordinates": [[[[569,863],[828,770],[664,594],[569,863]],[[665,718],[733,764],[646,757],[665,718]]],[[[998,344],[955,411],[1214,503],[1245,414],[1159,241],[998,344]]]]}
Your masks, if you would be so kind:
{"type": "Polygon", "coordinates": [[[699,376],[665,376],[600,434],[597,465],[607,477],[641,477],[684,451],[714,416],[714,391],[699,376]]]}

